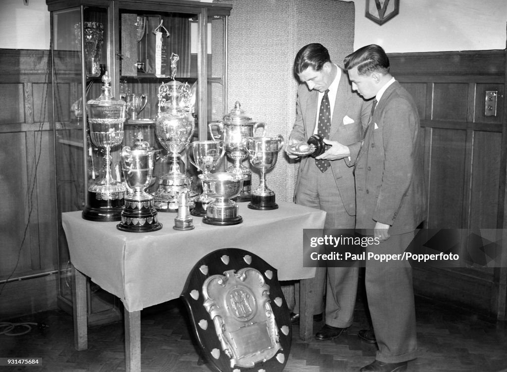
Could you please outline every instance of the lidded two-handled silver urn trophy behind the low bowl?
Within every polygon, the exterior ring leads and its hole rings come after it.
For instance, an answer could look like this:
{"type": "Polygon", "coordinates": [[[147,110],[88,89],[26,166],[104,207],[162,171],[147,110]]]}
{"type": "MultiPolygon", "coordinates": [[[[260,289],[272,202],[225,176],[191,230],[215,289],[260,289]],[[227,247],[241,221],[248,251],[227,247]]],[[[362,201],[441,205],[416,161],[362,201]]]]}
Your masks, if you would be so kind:
{"type": "Polygon", "coordinates": [[[208,128],[215,141],[224,142],[227,156],[234,161],[227,172],[245,176],[241,192],[234,200],[250,201],[251,172],[241,164],[248,156],[244,144],[248,137],[256,135],[259,128],[262,129],[260,136],[266,136],[266,123],[252,121],[251,117],[241,110],[241,104],[236,101],[234,109],[225,115],[222,121],[211,122],[208,128]]]}

